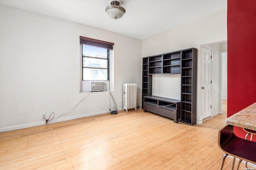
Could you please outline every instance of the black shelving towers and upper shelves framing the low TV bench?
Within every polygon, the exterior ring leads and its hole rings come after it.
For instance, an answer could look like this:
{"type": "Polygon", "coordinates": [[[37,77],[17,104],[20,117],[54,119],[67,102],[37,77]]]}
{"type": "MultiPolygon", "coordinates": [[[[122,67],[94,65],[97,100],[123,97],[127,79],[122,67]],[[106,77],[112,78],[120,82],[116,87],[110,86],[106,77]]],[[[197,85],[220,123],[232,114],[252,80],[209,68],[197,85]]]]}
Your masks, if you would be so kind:
{"type": "Polygon", "coordinates": [[[142,63],[142,109],[144,109],[144,96],[152,95],[152,75],[180,74],[181,102],[177,114],[180,114],[183,123],[196,124],[197,49],[191,48],[144,57],[142,63]]]}

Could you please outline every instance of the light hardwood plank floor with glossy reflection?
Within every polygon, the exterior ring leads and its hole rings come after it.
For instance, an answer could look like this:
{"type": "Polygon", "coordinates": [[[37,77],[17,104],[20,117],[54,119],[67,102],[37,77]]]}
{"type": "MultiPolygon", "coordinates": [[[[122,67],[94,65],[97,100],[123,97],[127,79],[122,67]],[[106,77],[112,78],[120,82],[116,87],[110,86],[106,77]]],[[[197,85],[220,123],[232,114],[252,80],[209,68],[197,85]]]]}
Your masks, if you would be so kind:
{"type": "MultiPolygon", "coordinates": [[[[2,132],[0,169],[218,170],[223,109],[194,126],[140,109],[2,132]]],[[[224,169],[231,160],[226,158],[224,169]]]]}

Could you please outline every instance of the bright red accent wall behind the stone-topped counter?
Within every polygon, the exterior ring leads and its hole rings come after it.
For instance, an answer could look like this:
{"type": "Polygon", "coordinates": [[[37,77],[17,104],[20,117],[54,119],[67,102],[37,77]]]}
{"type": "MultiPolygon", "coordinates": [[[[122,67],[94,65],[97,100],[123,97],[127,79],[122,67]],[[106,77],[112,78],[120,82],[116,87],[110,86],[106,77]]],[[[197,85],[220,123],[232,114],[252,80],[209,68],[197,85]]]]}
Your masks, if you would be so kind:
{"type": "MultiPolygon", "coordinates": [[[[227,16],[230,117],[256,102],[256,0],[228,0],[227,16]]],[[[234,133],[241,138],[246,134],[238,127],[234,133]]]]}

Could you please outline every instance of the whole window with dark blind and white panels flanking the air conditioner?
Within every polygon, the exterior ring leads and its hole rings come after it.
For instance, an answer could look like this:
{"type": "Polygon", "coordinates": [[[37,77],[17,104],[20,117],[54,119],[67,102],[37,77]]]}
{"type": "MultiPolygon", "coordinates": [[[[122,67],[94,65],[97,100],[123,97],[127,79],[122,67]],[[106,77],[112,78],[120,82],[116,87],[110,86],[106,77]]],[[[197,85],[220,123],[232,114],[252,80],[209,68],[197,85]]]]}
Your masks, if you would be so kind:
{"type": "Polygon", "coordinates": [[[113,45],[114,43],[80,36],[80,92],[90,91],[90,81],[104,81],[106,90],[114,88],[113,45]]]}

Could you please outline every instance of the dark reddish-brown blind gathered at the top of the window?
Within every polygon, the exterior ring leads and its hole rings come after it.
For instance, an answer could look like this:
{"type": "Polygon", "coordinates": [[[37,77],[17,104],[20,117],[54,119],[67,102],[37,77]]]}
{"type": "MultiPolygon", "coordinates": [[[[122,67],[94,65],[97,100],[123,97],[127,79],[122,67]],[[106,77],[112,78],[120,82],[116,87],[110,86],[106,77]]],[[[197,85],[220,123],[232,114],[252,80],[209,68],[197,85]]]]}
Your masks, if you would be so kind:
{"type": "Polygon", "coordinates": [[[107,41],[101,41],[98,39],[92,39],[92,38],[82,37],[82,36],[80,36],[80,44],[91,45],[94,47],[101,47],[105,49],[113,49],[113,45],[114,45],[114,43],[110,43],[107,41]]]}

